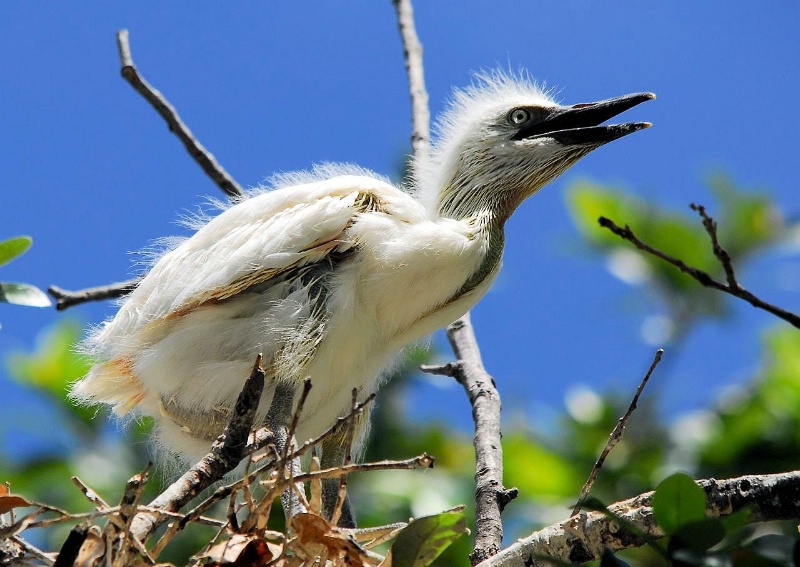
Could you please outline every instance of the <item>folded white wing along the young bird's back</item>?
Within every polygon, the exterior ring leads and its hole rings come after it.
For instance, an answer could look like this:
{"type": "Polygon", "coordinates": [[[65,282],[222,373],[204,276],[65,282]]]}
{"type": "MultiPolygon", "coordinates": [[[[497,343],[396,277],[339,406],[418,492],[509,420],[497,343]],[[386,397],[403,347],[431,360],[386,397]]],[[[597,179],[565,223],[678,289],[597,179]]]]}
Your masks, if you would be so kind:
{"type": "Polygon", "coordinates": [[[402,192],[379,179],[343,176],[262,193],[227,209],[156,262],[86,350],[106,360],[124,355],[158,340],[170,321],[202,305],[352,247],[347,229],[383,194],[398,199],[402,192]]]}

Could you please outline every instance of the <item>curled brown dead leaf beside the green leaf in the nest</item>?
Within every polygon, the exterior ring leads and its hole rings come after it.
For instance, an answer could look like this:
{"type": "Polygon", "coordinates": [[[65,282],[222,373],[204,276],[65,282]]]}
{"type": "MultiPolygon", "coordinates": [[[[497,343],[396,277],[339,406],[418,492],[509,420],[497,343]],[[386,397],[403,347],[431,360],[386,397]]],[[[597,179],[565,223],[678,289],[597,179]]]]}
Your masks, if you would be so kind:
{"type": "Polygon", "coordinates": [[[297,514],[292,517],[291,526],[303,551],[311,556],[325,553],[328,559],[338,559],[354,567],[371,564],[367,553],[349,534],[316,514],[297,514]]]}

